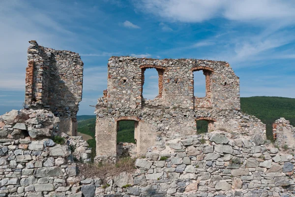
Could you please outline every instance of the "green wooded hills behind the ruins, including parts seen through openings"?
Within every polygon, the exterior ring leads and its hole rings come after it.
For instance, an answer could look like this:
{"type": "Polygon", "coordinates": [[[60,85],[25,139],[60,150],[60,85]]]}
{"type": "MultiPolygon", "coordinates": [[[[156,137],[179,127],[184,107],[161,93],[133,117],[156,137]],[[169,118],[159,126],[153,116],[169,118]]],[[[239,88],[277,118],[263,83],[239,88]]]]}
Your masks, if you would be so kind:
{"type": "MultiPolygon", "coordinates": [[[[242,112],[254,115],[266,124],[266,135],[268,139],[272,139],[272,123],[281,117],[286,118],[286,120],[289,120],[295,126],[295,99],[283,97],[248,97],[241,98],[240,100],[242,112]]],[[[77,116],[77,120],[78,132],[93,137],[93,139],[88,140],[88,143],[95,150],[95,116],[77,116]]],[[[206,121],[198,123],[197,130],[199,132],[207,131],[206,124],[206,121]]],[[[134,121],[119,122],[117,141],[135,142],[134,121]]]]}

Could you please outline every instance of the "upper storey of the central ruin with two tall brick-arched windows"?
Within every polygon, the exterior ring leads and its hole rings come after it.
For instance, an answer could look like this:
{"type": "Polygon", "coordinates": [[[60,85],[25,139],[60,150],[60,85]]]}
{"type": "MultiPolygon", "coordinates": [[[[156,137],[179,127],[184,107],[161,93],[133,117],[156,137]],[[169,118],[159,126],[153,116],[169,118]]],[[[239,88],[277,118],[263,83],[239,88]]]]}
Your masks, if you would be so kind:
{"type": "Polygon", "coordinates": [[[149,105],[180,106],[187,109],[240,109],[239,78],[226,62],[193,59],[146,59],[111,57],[108,63],[108,104],[112,108],[149,105]],[[159,95],[145,103],[142,97],[144,71],[156,68],[159,95]],[[206,75],[206,97],[194,97],[193,72],[206,75]],[[128,94],[124,94],[127,92],[128,94]]]}

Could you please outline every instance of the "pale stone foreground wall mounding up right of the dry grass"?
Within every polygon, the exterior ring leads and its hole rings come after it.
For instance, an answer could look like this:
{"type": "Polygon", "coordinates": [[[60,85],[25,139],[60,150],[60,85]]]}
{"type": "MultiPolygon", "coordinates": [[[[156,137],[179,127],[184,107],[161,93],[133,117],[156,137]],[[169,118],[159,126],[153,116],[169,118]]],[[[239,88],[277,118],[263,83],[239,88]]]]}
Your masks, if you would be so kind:
{"type": "Polygon", "coordinates": [[[294,197],[294,164],[263,138],[214,131],[153,147],[106,188],[88,182],[98,197],[294,197]]]}

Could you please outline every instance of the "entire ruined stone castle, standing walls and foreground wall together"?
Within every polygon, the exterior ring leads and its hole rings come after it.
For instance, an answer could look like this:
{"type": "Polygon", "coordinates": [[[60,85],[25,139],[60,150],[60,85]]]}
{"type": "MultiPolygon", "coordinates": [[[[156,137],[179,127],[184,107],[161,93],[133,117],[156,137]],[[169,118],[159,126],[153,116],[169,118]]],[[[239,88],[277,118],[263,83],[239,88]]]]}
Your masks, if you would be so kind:
{"type": "Polygon", "coordinates": [[[116,162],[123,149],[136,161],[132,172],[98,177],[85,164],[88,143],[69,136],[82,99],[80,56],[29,43],[24,109],[0,115],[0,197],[295,197],[295,128],[275,121],[268,143],[265,124],[240,112],[228,63],[111,57],[95,109],[95,161],[116,162]],[[142,94],[146,69],[158,72],[152,100],[142,94]],[[194,95],[196,71],[206,76],[204,98],[194,95]],[[117,141],[126,120],[134,144],[117,141]],[[197,134],[198,120],[207,133],[197,134]]]}

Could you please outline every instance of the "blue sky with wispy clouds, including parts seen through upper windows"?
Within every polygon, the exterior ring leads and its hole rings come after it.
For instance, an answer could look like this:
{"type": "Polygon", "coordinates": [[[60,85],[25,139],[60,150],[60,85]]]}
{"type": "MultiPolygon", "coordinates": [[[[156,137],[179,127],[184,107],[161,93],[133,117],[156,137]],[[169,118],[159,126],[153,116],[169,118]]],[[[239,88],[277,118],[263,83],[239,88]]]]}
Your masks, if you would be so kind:
{"type": "MultiPolygon", "coordinates": [[[[294,0],[2,0],[0,27],[0,114],[22,107],[31,39],[81,55],[79,115],[93,114],[108,59],[120,55],[226,61],[241,97],[295,98],[294,0]]],[[[148,99],[157,93],[152,71],[148,99]]],[[[205,81],[196,77],[198,96],[205,81]]]]}

